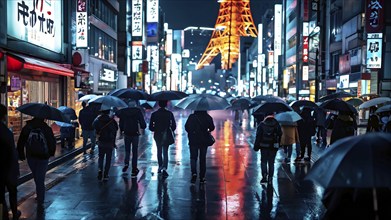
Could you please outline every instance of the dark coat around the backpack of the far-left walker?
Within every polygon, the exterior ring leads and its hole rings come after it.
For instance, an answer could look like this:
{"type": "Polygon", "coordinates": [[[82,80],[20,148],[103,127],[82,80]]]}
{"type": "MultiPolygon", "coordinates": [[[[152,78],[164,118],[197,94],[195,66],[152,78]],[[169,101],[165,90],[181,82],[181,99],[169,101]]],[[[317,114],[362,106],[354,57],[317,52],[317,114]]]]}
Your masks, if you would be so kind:
{"type": "MultiPolygon", "coordinates": [[[[48,124],[43,119],[33,118],[32,120],[27,121],[26,125],[23,127],[22,132],[20,133],[19,140],[18,140],[18,153],[19,153],[19,159],[25,160],[26,156],[29,157],[31,155],[25,155],[25,145],[27,142],[27,139],[30,135],[30,131],[34,128],[41,128],[43,134],[45,135],[48,151],[49,151],[49,157],[54,156],[54,153],[56,152],[56,139],[54,138],[53,131],[49,127],[48,124]]],[[[49,159],[49,157],[45,159],[49,159]]]]}

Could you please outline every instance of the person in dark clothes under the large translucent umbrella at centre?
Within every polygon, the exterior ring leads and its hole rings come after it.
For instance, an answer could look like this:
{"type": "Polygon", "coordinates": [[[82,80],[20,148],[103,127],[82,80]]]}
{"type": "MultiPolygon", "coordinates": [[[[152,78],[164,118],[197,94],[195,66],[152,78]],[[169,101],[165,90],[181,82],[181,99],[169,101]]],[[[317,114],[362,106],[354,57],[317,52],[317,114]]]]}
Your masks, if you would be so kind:
{"type": "MultiPolygon", "coordinates": [[[[197,181],[197,159],[200,163],[200,183],[205,183],[206,153],[208,144],[203,142],[205,133],[215,129],[213,118],[206,111],[194,111],[185,123],[185,130],[189,138],[191,183],[197,181]]],[[[206,133],[207,134],[207,133],[206,133]]]]}

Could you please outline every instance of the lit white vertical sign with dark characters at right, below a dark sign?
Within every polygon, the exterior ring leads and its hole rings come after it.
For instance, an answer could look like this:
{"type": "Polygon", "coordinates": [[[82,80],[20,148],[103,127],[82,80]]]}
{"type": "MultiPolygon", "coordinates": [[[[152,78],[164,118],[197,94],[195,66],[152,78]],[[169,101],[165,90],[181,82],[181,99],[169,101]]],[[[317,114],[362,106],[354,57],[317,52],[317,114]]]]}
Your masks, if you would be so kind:
{"type": "Polygon", "coordinates": [[[370,33],[367,37],[367,68],[380,69],[382,61],[382,33],[370,33]]]}

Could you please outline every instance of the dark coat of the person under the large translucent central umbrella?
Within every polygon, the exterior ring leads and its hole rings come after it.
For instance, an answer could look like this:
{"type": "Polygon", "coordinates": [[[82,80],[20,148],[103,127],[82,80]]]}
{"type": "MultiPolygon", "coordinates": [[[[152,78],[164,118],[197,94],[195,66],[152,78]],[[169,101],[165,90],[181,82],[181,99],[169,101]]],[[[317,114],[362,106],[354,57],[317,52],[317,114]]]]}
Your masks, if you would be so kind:
{"type": "Polygon", "coordinates": [[[190,146],[207,146],[203,142],[206,132],[215,129],[213,118],[206,111],[196,111],[189,115],[185,123],[185,130],[189,138],[190,146]]]}

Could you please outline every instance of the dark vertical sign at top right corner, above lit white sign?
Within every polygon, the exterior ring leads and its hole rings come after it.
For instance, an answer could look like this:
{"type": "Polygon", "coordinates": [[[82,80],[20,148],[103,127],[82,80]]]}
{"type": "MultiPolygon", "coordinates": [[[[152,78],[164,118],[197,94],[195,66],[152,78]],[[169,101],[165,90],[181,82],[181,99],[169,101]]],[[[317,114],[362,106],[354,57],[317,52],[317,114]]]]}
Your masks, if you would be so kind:
{"type": "Polygon", "coordinates": [[[384,26],[384,0],[366,1],[366,31],[367,33],[383,32],[384,26]]]}

